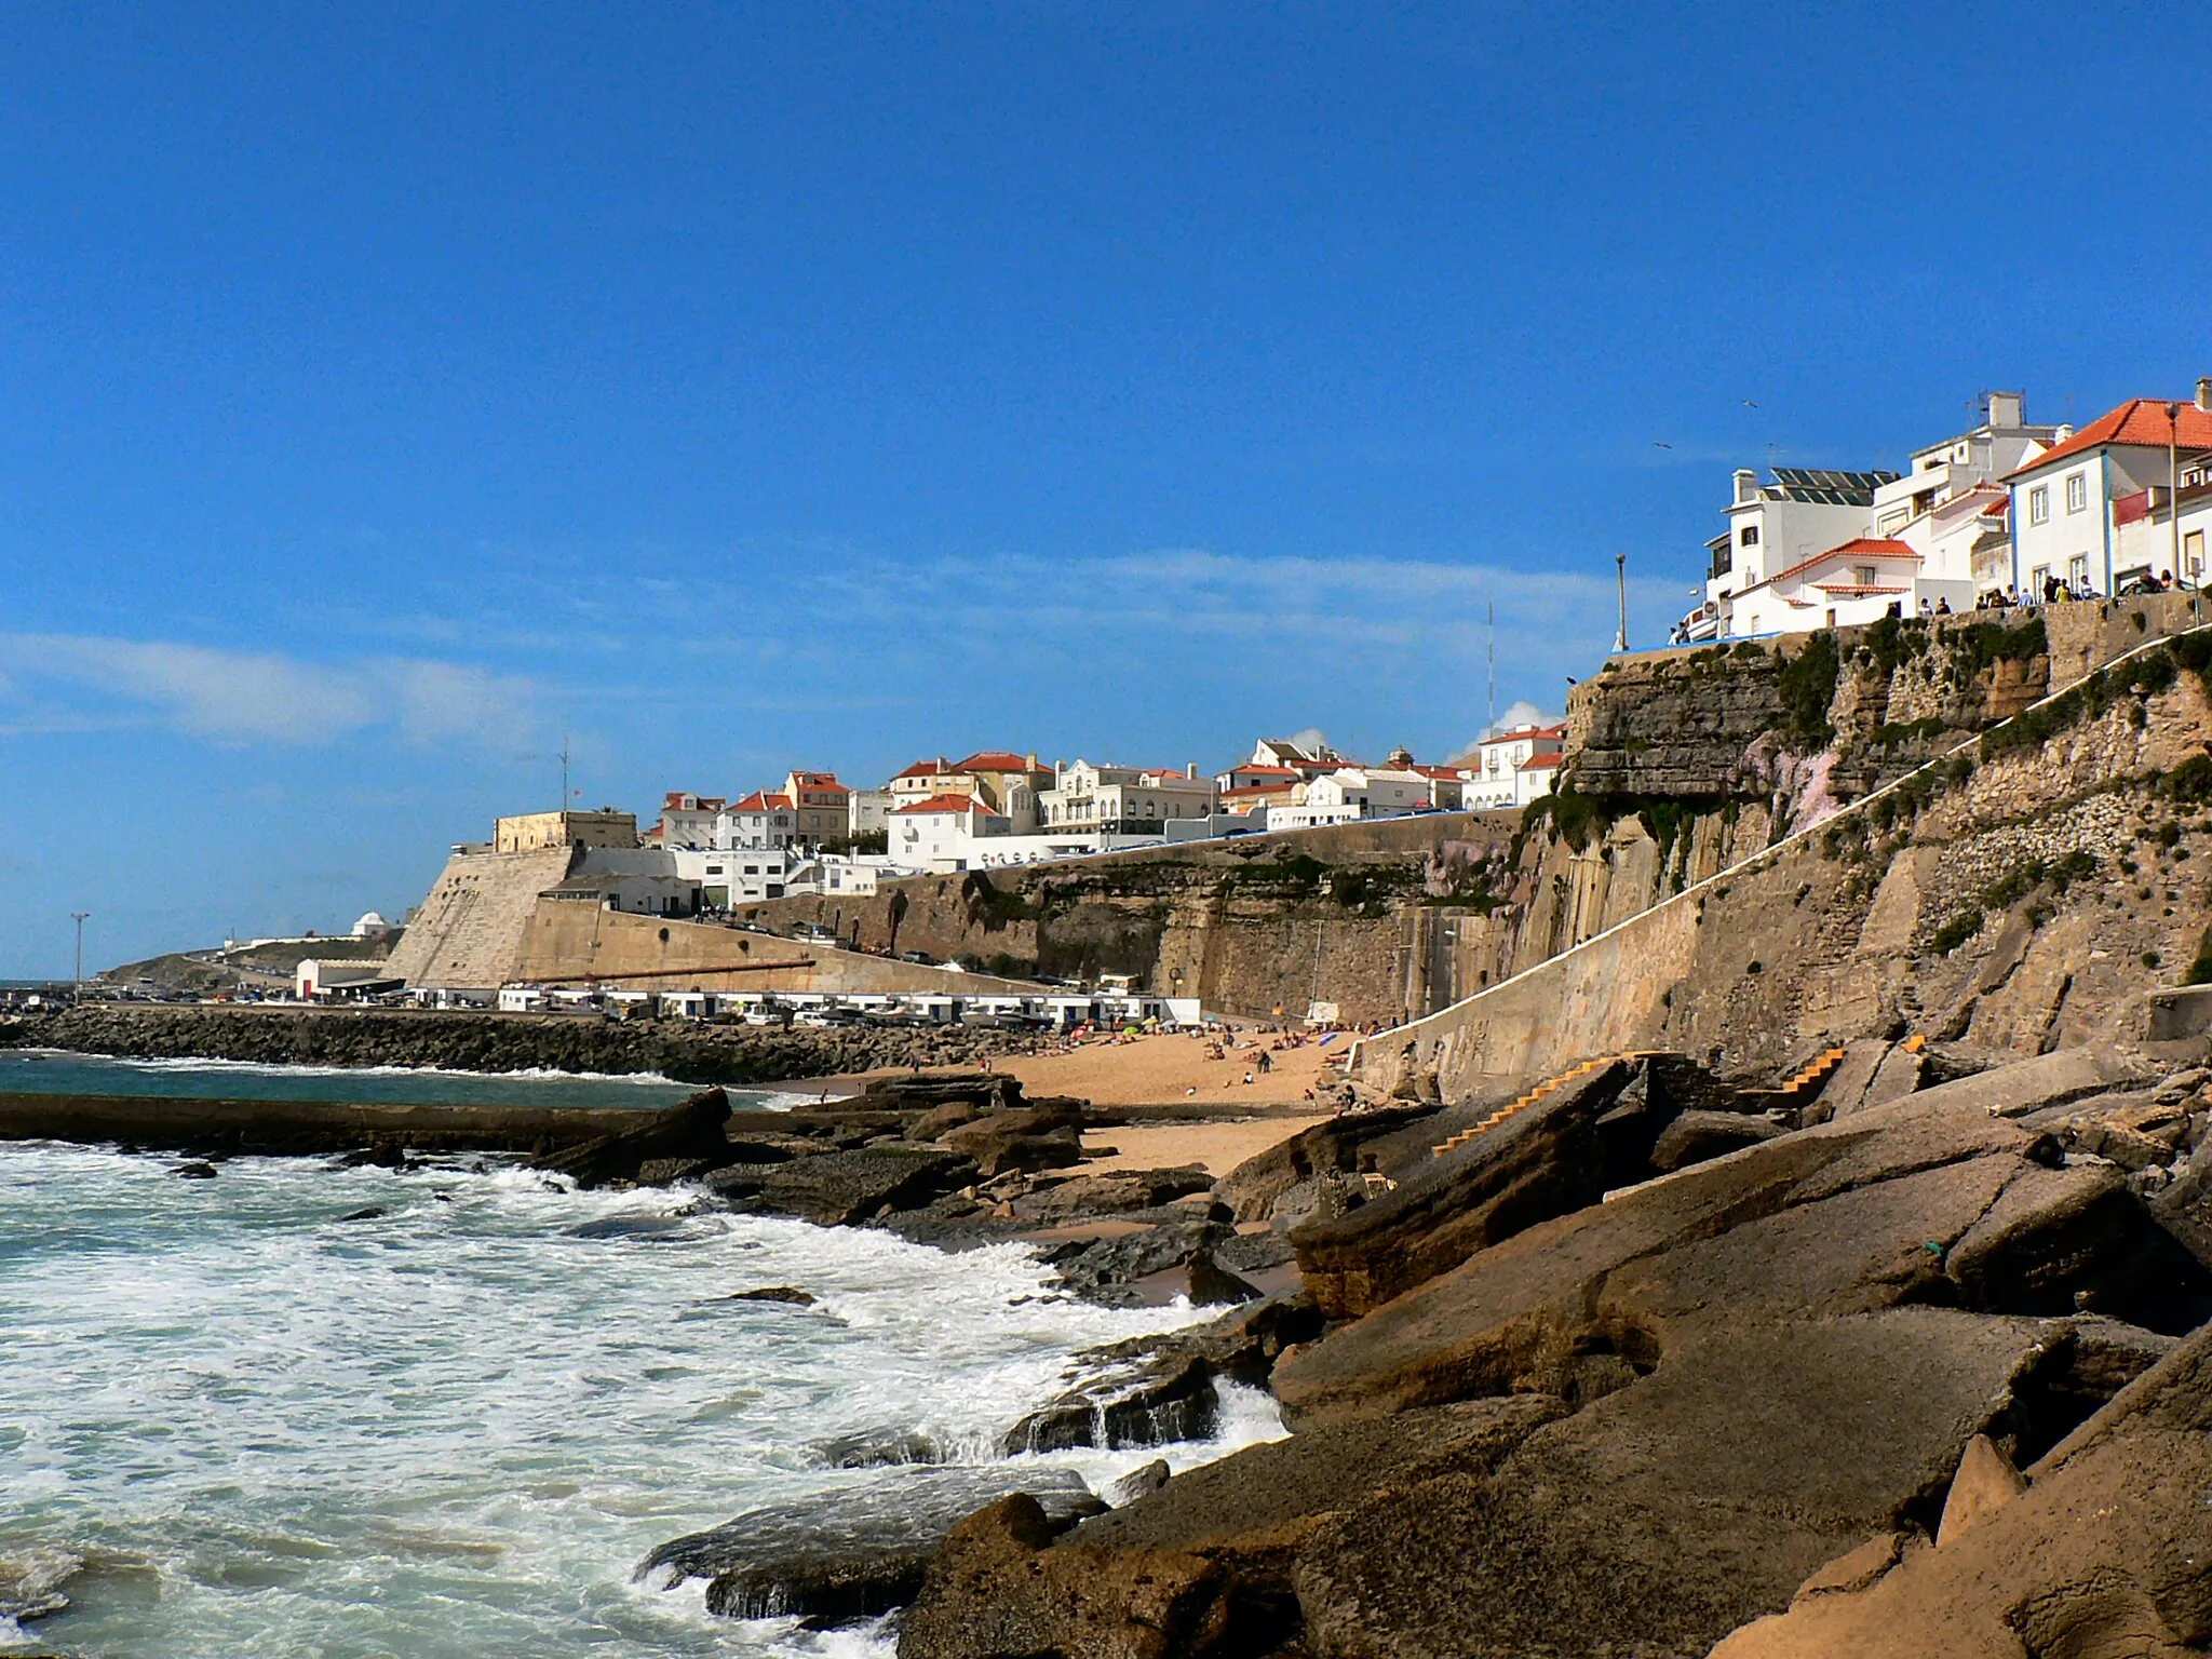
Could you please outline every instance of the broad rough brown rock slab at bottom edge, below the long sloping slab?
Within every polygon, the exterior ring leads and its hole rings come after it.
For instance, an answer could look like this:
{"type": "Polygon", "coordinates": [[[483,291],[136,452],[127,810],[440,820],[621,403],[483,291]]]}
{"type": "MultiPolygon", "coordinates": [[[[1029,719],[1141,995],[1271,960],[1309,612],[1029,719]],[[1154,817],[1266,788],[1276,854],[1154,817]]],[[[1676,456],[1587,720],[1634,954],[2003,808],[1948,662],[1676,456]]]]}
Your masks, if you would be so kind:
{"type": "Polygon", "coordinates": [[[2037,1321],[1933,1307],[1710,1332],[1528,1436],[1298,1551],[1329,1659],[1692,1659],[1823,1562],[1916,1515],[2033,1374],[2037,1321]]]}

